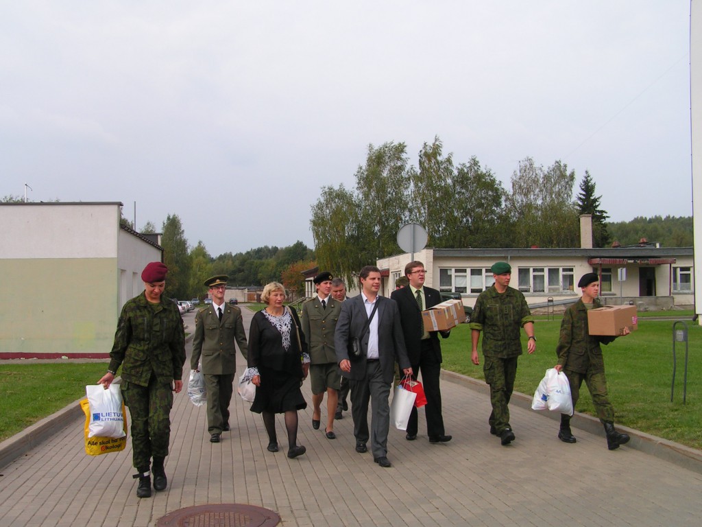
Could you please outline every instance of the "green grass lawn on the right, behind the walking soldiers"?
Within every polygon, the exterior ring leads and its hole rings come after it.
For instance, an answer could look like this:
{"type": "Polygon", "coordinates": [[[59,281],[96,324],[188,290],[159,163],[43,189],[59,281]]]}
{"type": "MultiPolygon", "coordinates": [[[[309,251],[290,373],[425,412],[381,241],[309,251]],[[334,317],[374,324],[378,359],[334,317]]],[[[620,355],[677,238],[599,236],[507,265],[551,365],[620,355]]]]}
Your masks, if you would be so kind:
{"type": "MultiPolygon", "coordinates": [[[[684,343],[677,343],[675,398],[670,402],[673,379],[673,321],[639,320],[637,331],[602,346],[609,397],[616,422],[627,427],[702,449],[702,327],[687,323],[689,363],[687,403],[682,403],[684,343]]],[[[560,329],[557,320],[538,320],[536,353],[519,358],[515,391],[534,394],[545,371],[556,364],[560,329]]],[[[524,332],[522,332],[524,335],[524,332]]],[[[523,349],[527,349],[523,337],[523,349]]],[[[484,379],[480,365],[470,362],[470,328],[461,324],[442,340],[443,367],[476,379],[484,379]]],[[[583,384],[578,412],[595,415],[587,387],[583,384]]]]}

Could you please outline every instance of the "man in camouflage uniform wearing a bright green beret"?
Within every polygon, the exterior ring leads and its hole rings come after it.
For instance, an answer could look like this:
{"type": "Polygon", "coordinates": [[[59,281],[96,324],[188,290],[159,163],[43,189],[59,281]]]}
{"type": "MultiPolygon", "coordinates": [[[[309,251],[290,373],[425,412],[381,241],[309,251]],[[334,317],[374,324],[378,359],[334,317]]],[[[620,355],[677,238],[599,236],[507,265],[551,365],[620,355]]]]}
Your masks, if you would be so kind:
{"type": "Polygon", "coordinates": [[[529,340],[527,351],[536,351],[534,337],[534,317],[531,316],[524,295],[509,287],[512,267],[505,261],[498,261],[490,268],[495,279],[494,285],[479,294],[470,316],[470,339],[472,351],[470,360],[478,365],[478,340],[483,333],[482,351],[485,358],[483,371],[485,382],[490,385],[490,433],[500,436],[501,443],[508,445],[515,440],[510,427],[508,404],[517,376],[517,358],[522,355],[522,341],[519,328],[524,327],[529,340]]]}

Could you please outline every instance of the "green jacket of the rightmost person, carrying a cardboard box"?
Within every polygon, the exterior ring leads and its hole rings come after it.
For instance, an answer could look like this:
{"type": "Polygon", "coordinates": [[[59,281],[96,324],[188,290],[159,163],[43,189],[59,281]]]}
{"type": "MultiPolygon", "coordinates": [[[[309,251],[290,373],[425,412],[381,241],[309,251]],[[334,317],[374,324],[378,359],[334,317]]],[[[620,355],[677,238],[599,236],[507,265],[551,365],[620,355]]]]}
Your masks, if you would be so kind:
{"type": "MultiPolygon", "coordinates": [[[[595,299],[592,308],[602,307],[595,299]]],[[[591,335],[588,330],[588,308],[579,299],[563,314],[556,355],[564,370],[578,373],[604,373],[604,357],[600,344],[609,344],[616,337],[591,335]]]]}

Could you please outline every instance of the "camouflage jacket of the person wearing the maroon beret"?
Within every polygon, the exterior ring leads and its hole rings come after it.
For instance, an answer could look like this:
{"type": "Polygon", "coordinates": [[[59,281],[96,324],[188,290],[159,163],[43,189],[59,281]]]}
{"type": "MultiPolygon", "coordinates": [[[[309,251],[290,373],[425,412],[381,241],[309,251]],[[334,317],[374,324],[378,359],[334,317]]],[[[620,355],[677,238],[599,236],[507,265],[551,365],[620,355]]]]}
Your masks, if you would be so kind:
{"type": "Polygon", "coordinates": [[[173,301],[161,298],[151,304],[142,292],[128,300],[117,321],[110,351],[110,366],[121,377],[139,386],[148,386],[152,373],[161,383],[183,379],[185,330],[180,311],[173,301]]]}

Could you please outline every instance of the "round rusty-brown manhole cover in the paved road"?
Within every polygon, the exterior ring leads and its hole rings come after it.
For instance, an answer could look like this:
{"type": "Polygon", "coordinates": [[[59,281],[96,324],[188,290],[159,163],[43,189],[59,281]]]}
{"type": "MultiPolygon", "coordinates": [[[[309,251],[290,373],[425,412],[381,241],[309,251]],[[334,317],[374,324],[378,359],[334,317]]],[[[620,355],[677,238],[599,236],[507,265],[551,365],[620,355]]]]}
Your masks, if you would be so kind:
{"type": "Polygon", "coordinates": [[[185,507],[169,512],[157,521],[157,527],[273,527],[280,516],[253,505],[216,504],[185,507]]]}

